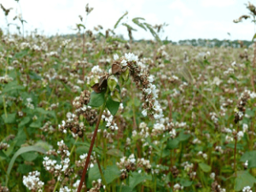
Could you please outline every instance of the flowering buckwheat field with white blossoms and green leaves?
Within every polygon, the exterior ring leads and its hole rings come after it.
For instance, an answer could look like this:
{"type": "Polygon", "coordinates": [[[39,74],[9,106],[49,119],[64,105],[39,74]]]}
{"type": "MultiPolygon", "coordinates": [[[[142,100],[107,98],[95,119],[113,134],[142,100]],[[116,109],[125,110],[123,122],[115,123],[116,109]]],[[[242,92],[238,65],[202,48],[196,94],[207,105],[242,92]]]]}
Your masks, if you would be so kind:
{"type": "Polygon", "coordinates": [[[172,44],[127,14],[93,31],[80,16],[67,36],[24,35],[20,17],[0,31],[0,191],[256,191],[255,44],[172,44]]]}

